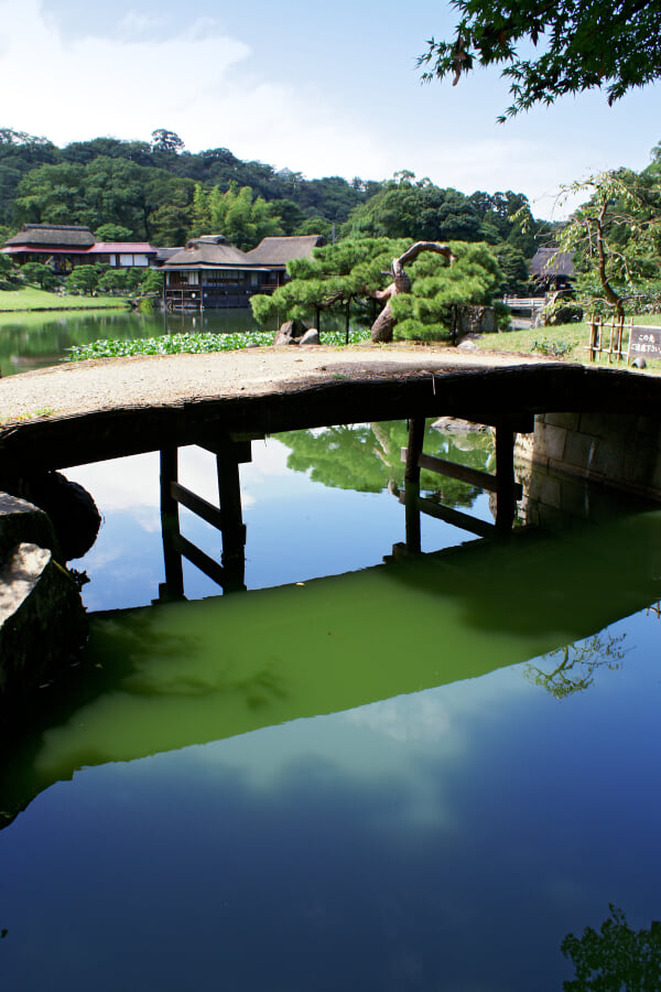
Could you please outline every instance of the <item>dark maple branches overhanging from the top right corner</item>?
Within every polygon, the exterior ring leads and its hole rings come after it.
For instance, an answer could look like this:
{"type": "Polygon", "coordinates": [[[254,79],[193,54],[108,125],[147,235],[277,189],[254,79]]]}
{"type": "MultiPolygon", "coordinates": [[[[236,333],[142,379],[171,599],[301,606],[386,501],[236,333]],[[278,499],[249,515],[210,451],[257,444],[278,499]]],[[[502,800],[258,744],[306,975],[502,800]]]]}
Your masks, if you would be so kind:
{"type": "Polygon", "coordinates": [[[453,0],[460,19],[449,41],[427,42],[423,79],[498,65],[510,84],[505,120],[565,94],[606,88],[611,105],[661,75],[661,7],[649,0],[453,0]],[[530,46],[537,51],[528,57],[530,46]],[[538,47],[539,46],[539,47],[538,47]]]}

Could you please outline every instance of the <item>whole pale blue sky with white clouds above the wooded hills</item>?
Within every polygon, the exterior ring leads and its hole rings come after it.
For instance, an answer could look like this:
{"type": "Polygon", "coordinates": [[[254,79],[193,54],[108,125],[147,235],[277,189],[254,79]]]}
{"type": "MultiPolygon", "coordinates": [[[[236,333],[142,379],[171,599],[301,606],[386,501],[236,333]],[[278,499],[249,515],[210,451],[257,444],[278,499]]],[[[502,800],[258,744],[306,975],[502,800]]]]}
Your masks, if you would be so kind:
{"type": "Polygon", "coordinates": [[[649,162],[660,86],[503,126],[497,73],[421,85],[415,56],[453,22],[437,0],[0,0],[0,126],[58,144],[166,127],[191,151],[225,147],[308,179],[410,169],[464,193],[511,188],[538,216],[564,213],[563,184],[649,162]]]}

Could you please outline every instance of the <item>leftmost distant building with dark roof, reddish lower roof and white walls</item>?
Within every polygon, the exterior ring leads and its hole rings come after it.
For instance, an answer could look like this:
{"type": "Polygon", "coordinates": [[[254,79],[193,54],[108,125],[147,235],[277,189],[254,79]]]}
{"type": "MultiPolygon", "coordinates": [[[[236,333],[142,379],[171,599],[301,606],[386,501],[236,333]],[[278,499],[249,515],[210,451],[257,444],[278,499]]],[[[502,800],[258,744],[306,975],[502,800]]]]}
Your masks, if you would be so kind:
{"type": "Polygon", "coordinates": [[[0,251],[20,266],[42,262],[58,276],[97,262],[122,269],[149,266],[158,255],[147,241],[97,241],[88,227],[64,224],[23,224],[0,251]]]}

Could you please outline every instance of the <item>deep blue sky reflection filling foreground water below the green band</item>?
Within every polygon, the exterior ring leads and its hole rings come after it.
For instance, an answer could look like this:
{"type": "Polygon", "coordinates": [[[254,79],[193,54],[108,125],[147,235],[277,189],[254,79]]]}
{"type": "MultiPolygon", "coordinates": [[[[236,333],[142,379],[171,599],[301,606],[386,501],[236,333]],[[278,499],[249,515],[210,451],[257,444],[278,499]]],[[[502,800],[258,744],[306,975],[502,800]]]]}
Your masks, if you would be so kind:
{"type": "Polygon", "coordinates": [[[517,666],[83,769],[0,834],[4,986],[560,992],[566,932],[661,915],[659,629],[562,702],[517,666]]]}

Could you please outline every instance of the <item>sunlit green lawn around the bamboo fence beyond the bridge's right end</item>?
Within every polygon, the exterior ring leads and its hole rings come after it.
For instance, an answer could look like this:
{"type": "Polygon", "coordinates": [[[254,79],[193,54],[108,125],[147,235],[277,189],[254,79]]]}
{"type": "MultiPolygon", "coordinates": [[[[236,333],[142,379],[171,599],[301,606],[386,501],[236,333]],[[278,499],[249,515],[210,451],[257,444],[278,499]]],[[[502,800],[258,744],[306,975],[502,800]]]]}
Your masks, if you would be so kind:
{"type": "MultiPolygon", "coordinates": [[[[661,326],[661,314],[642,314],[633,317],[635,323],[647,326],[661,326]]],[[[625,321],[625,335],[622,348],[627,351],[629,334],[627,324],[629,317],[625,321]]],[[[516,352],[523,355],[549,355],[554,358],[564,358],[567,362],[581,362],[584,365],[589,363],[589,353],[587,346],[589,344],[589,327],[585,322],[575,324],[557,324],[555,327],[525,327],[520,331],[503,331],[500,334],[483,334],[477,338],[476,344],[479,348],[490,352],[516,352]]],[[[602,355],[597,358],[598,365],[608,365],[608,355],[602,355]]],[[[615,358],[611,365],[620,365],[626,367],[626,362],[617,363],[615,358]]],[[[647,362],[650,371],[661,373],[661,362],[647,362]]]]}

